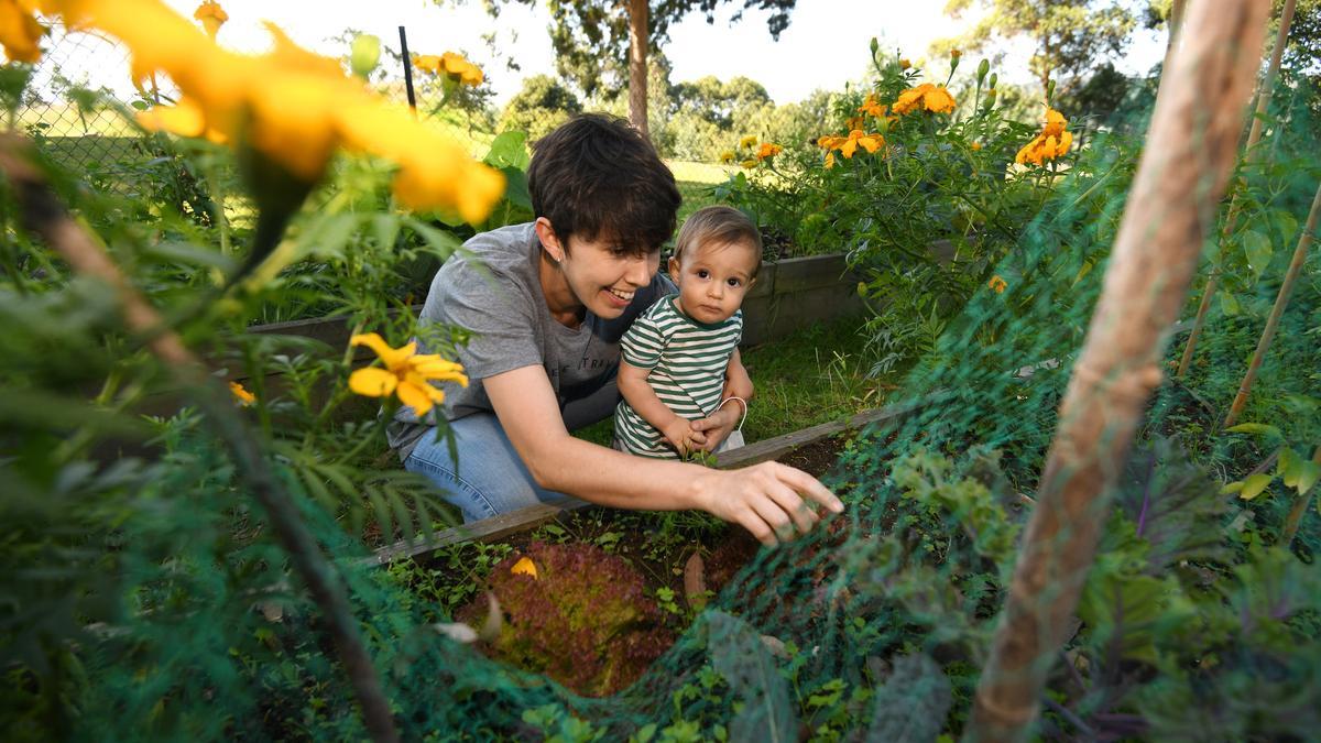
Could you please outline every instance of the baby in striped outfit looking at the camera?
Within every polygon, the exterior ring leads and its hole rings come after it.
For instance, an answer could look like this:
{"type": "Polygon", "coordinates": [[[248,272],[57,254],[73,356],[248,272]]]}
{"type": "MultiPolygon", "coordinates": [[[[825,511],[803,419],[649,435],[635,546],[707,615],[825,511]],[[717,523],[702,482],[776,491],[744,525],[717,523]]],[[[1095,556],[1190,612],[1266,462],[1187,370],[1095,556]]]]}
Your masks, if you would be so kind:
{"type": "Polygon", "coordinates": [[[741,212],[708,206],[688,217],[670,259],[679,293],[653,304],[620,345],[617,448],[678,459],[707,443],[694,420],[729,401],[742,403],[746,414],[746,402],[721,399],[721,391],[727,377],[746,378],[738,358],[740,307],[760,270],[761,234],[741,212]]]}

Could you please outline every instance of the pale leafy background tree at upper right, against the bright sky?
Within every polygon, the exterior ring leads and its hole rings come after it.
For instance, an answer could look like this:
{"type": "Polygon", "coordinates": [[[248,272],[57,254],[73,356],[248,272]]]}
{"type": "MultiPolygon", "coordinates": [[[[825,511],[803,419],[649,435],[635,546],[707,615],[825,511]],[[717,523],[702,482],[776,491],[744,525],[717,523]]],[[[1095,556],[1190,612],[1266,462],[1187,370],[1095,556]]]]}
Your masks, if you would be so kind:
{"type": "Polygon", "coordinates": [[[974,7],[985,11],[982,21],[941,46],[976,52],[999,40],[1028,37],[1032,73],[1042,89],[1054,79],[1061,91],[1116,58],[1137,25],[1136,13],[1122,0],[948,0],[945,12],[958,19],[974,7]]]}

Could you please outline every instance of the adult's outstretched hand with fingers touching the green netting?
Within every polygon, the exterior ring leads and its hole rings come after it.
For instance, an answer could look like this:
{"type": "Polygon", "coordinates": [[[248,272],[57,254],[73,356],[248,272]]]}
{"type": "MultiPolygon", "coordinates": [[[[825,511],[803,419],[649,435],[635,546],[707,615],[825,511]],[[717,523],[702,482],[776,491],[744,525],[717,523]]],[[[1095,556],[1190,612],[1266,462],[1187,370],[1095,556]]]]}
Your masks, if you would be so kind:
{"type": "Polygon", "coordinates": [[[815,477],[777,461],[712,469],[696,477],[692,488],[703,510],[741,525],[768,546],[811,531],[820,521],[819,509],[844,510],[844,504],[815,477]]]}

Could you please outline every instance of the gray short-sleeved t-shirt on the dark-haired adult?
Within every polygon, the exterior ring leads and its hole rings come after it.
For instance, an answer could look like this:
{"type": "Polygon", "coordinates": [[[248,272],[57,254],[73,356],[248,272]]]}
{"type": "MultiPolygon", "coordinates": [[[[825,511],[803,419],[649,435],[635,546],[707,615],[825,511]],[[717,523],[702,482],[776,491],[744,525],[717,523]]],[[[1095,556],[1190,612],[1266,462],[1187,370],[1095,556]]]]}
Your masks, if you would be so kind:
{"type": "MultiPolygon", "coordinates": [[[[638,315],[675,291],[670,279],[657,274],[614,320],[588,312],[577,328],[565,328],[551,317],[542,293],[542,243],[531,223],[481,233],[464,249],[436,271],[419,324],[444,323],[472,332],[457,358],[468,387],[444,383],[445,402],[425,420],[408,406],[399,409],[386,430],[399,457],[408,459],[435,415],[457,420],[490,412],[482,379],[523,366],[546,369],[568,428],[608,416],[618,402],[620,338],[638,315]]],[[[431,353],[420,340],[419,353],[431,353]]]]}

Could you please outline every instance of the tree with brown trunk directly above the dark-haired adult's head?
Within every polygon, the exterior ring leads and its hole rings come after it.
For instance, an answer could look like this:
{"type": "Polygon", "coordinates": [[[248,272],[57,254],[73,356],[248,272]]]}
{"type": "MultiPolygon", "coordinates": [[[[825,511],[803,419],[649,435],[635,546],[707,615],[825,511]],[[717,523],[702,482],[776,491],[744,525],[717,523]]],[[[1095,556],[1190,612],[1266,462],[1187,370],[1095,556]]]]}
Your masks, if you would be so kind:
{"type": "MultiPolygon", "coordinates": [[[[538,0],[483,0],[491,15],[507,3],[532,5],[538,0]]],[[[701,11],[715,22],[716,7],[729,0],[547,0],[551,9],[551,42],[556,66],[565,79],[585,95],[602,85],[622,86],[627,81],[629,122],[647,134],[647,54],[670,38],[670,25],[690,11],[701,11]]],[[[797,0],[742,0],[742,9],[771,11],[766,20],[771,38],[789,28],[789,15],[797,0]]]]}

